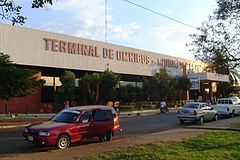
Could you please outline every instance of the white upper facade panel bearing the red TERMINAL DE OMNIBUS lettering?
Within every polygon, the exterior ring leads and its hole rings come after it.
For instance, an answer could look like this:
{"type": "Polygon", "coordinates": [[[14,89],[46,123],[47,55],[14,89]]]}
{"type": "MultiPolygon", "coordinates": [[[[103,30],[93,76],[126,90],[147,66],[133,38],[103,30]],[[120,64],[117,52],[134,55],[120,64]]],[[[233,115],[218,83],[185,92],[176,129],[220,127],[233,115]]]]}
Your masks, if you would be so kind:
{"type": "Polygon", "coordinates": [[[202,72],[204,64],[160,53],[62,34],[0,24],[0,51],[18,65],[152,76],[165,67],[175,75],[183,66],[202,72]]]}

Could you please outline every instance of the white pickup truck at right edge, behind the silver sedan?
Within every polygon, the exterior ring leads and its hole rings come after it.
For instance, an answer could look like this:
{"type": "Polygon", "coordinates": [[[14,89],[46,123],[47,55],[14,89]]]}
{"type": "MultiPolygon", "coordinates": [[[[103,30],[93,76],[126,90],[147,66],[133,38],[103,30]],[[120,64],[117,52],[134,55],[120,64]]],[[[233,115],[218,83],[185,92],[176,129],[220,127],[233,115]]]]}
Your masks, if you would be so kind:
{"type": "Polygon", "coordinates": [[[219,98],[214,109],[220,116],[234,117],[240,114],[240,102],[236,97],[219,98]]]}

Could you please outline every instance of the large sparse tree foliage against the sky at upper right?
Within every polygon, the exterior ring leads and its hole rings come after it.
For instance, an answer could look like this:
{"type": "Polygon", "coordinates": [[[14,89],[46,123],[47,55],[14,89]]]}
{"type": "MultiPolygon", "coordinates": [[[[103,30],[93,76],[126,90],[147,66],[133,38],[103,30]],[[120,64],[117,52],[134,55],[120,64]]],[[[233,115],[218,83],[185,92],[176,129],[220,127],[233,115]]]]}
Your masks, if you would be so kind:
{"type": "Polygon", "coordinates": [[[217,4],[199,32],[190,35],[193,41],[188,45],[197,59],[209,63],[217,73],[239,77],[234,70],[240,67],[240,2],[218,0],[217,4]]]}

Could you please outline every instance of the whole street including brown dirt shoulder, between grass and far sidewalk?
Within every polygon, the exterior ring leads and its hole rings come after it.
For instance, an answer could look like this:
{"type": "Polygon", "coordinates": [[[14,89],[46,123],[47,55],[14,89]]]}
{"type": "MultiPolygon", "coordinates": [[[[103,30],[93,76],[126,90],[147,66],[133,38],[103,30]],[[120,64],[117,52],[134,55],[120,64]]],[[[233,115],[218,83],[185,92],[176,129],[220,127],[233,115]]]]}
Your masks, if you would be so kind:
{"type": "Polygon", "coordinates": [[[165,140],[179,141],[191,135],[201,135],[209,129],[229,128],[233,124],[239,124],[240,117],[220,119],[203,125],[195,125],[195,123],[180,125],[176,113],[128,117],[121,118],[120,121],[124,131],[116,135],[113,141],[98,143],[97,139],[92,139],[75,143],[70,148],[61,151],[54,150],[54,147],[37,147],[24,141],[21,136],[23,128],[0,129],[0,159],[82,159],[84,155],[101,154],[112,149],[119,149],[119,147],[129,147],[132,144],[164,142],[165,140]],[[152,132],[155,133],[147,134],[152,132]]]}

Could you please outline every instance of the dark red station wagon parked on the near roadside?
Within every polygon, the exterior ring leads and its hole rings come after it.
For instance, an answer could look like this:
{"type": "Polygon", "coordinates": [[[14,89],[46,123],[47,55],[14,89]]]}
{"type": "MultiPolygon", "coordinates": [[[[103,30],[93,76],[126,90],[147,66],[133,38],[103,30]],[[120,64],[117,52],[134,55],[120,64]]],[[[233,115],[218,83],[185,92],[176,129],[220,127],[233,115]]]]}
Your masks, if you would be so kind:
{"type": "Polygon", "coordinates": [[[23,137],[34,144],[63,149],[91,137],[110,141],[119,131],[119,118],[113,107],[82,106],[64,109],[48,122],[26,127],[23,137]]]}

